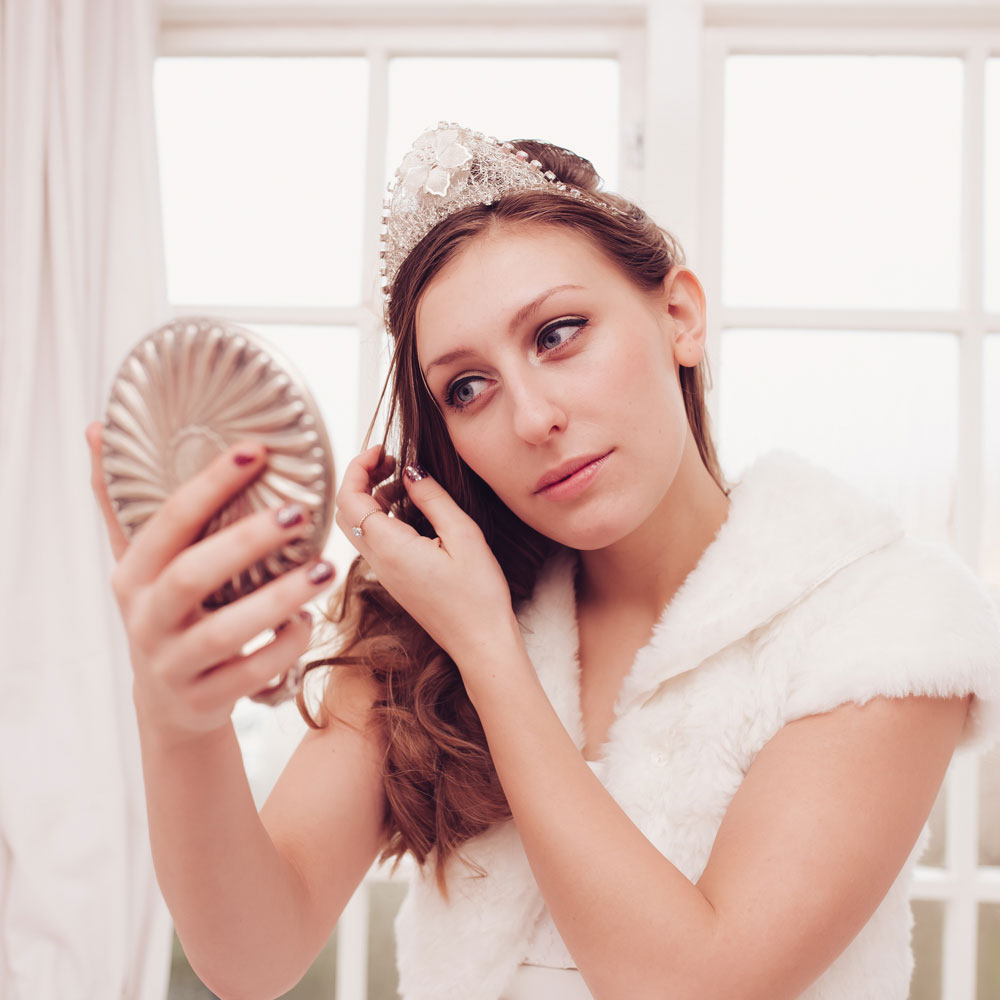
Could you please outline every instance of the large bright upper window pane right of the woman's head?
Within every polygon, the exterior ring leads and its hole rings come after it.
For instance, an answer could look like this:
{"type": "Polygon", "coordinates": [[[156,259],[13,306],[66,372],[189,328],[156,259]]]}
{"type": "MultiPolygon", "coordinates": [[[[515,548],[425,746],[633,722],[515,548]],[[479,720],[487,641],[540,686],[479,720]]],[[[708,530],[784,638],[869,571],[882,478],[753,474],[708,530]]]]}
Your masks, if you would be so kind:
{"type": "Polygon", "coordinates": [[[957,304],[957,59],[732,56],[725,100],[727,303],[957,304]]]}

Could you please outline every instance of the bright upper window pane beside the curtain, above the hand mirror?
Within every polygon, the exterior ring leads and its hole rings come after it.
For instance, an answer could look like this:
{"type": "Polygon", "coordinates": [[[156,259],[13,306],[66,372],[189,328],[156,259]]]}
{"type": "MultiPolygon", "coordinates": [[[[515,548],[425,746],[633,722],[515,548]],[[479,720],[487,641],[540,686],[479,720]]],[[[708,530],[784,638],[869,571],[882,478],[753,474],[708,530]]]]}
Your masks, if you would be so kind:
{"type": "Polygon", "coordinates": [[[359,301],[367,86],[364,59],[157,61],[172,302],[359,301]]]}

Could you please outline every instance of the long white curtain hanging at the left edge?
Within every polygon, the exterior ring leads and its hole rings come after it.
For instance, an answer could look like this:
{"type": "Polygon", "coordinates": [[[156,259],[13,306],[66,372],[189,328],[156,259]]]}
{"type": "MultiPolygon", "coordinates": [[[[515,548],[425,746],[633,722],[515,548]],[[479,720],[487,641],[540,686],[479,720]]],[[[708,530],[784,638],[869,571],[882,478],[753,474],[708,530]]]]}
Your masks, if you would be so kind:
{"type": "Polygon", "coordinates": [[[166,317],[156,0],[0,0],[0,996],[162,1000],[86,424],[166,317]]]}

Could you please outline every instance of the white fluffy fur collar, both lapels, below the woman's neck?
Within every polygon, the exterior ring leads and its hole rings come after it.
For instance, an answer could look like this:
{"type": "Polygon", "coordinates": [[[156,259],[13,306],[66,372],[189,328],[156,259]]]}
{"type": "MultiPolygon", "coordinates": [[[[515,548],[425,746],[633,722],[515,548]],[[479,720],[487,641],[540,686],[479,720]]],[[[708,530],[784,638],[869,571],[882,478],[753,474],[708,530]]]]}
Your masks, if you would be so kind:
{"type": "MultiPolygon", "coordinates": [[[[789,451],[757,459],[733,485],[730,504],[726,521],[637,654],[616,717],[903,534],[889,507],[789,451]]],[[[542,686],[582,747],[576,566],[568,550],[551,560],[518,618],[542,686]]]]}

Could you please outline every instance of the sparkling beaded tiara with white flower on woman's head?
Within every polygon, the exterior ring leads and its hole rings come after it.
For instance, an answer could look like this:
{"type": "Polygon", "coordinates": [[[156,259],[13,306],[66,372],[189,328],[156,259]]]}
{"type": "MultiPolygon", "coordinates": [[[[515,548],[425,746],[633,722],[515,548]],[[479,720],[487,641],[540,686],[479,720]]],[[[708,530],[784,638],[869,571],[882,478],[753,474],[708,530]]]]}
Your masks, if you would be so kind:
{"type": "Polygon", "coordinates": [[[548,191],[624,215],[589,192],[564,184],[513,143],[454,122],[438,122],[437,128],[416,138],[382,202],[379,270],[385,302],[403,261],[439,222],[470,205],[492,205],[512,191],[548,191]]]}

